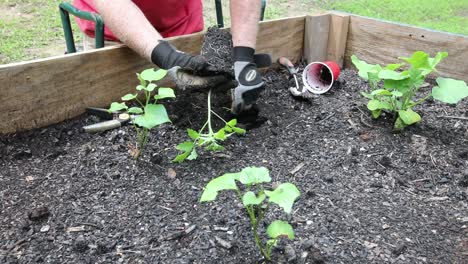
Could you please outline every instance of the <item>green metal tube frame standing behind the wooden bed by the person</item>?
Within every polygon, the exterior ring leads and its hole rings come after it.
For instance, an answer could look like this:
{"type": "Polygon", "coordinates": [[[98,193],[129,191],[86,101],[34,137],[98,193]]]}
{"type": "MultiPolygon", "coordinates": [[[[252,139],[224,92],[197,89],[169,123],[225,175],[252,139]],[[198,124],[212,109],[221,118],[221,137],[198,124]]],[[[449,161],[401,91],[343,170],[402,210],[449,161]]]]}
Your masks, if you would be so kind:
{"type": "MultiPolygon", "coordinates": [[[[221,0],[215,0],[216,6],[216,20],[218,22],[218,27],[224,27],[224,17],[223,17],[223,7],[221,5],[221,0]]],[[[262,0],[262,9],[260,13],[260,21],[263,21],[266,8],[266,0],[262,0]]],[[[65,35],[65,42],[67,44],[67,53],[75,53],[75,38],[73,37],[73,31],[70,23],[70,14],[93,21],[95,23],[95,36],[96,36],[96,48],[104,47],[104,21],[99,14],[86,12],[77,9],[70,3],[61,3],[59,5],[60,18],[62,19],[63,33],[65,35]]]]}

